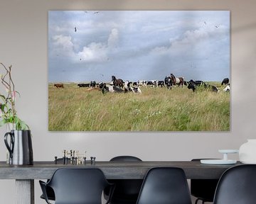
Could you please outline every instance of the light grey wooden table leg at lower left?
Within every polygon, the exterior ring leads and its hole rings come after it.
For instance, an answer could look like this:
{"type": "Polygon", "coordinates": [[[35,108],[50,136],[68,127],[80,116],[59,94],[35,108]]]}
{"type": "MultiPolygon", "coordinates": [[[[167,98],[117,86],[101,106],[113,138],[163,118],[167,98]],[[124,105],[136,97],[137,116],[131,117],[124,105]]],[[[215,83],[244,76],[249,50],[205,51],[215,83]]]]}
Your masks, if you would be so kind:
{"type": "Polygon", "coordinates": [[[35,204],[34,180],[16,179],[16,204],[35,204]]]}

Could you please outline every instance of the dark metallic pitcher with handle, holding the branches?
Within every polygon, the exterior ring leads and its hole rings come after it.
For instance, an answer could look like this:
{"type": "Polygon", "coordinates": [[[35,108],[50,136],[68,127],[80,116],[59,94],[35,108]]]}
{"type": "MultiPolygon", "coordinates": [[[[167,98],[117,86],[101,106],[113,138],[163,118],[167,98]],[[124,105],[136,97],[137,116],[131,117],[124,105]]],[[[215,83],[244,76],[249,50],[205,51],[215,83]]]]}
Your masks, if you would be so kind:
{"type": "Polygon", "coordinates": [[[33,164],[30,130],[11,130],[4,135],[4,143],[10,153],[9,164],[33,164]]]}

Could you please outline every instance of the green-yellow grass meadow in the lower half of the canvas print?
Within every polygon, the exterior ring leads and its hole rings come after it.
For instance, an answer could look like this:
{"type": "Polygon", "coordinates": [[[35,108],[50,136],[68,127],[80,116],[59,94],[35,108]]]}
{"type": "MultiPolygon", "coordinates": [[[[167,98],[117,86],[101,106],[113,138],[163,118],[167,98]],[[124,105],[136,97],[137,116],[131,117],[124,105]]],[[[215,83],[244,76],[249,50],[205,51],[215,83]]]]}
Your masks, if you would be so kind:
{"type": "MultiPolygon", "coordinates": [[[[220,87],[220,83],[211,82],[220,87]]],[[[187,87],[102,94],[77,84],[48,84],[50,131],[228,131],[230,94],[187,87]]]]}

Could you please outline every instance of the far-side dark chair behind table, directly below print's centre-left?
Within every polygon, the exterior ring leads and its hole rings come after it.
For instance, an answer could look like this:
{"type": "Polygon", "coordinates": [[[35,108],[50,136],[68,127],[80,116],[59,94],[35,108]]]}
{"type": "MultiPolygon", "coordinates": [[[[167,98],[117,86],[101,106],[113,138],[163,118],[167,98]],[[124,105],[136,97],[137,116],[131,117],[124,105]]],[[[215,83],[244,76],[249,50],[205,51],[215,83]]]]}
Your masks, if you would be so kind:
{"type": "MultiPolygon", "coordinates": [[[[118,156],[110,159],[110,162],[142,162],[142,159],[134,156],[118,156]]],[[[142,179],[112,179],[114,183],[114,193],[111,204],[135,204],[142,186],[142,179]]],[[[105,190],[105,198],[109,196],[109,189],[105,190]]]]}

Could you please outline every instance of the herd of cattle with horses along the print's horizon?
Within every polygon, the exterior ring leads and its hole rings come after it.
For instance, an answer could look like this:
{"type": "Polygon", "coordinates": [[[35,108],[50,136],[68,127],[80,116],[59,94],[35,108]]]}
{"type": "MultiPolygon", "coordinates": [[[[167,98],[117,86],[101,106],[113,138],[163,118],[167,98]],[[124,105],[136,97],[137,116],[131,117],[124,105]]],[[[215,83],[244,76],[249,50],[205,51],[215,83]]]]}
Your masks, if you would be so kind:
{"type": "MultiPolygon", "coordinates": [[[[228,78],[223,79],[221,85],[225,85],[223,91],[230,91],[230,80],[228,78]]],[[[54,84],[56,88],[64,88],[64,84],[54,84]]],[[[139,80],[139,81],[123,81],[122,79],[117,79],[112,76],[112,81],[110,83],[97,83],[96,81],[90,81],[87,84],[78,84],[79,87],[88,87],[87,91],[91,90],[100,90],[103,94],[106,92],[111,93],[127,93],[133,92],[135,94],[142,94],[142,90],[139,87],[146,88],[147,86],[151,87],[167,87],[167,89],[171,90],[173,86],[187,86],[188,89],[192,89],[192,91],[196,91],[199,86],[204,89],[211,90],[213,92],[219,92],[216,86],[206,84],[204,81],[194,81],[191,79],[190,81],[185,81],[183,77],[175,77],[174,74],[170,74],[169,77],[165,77],[164,80],[139,80]]]]}

